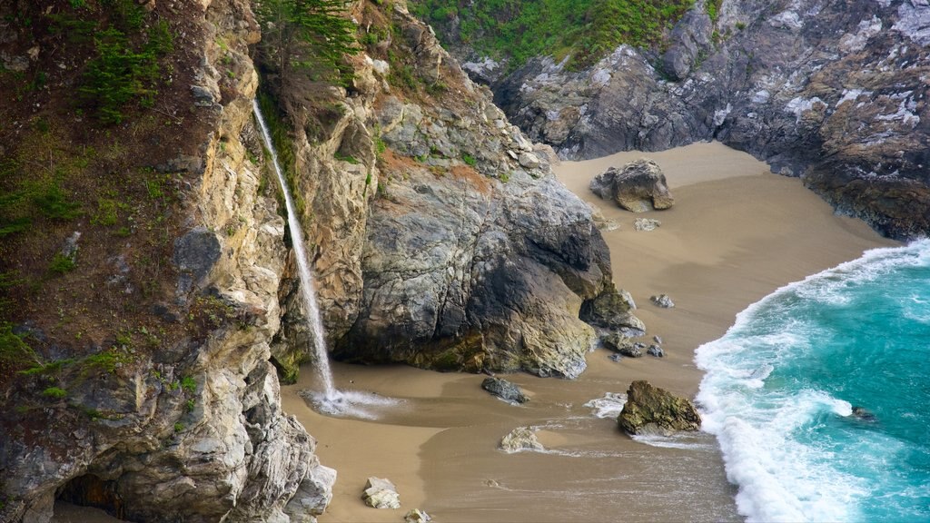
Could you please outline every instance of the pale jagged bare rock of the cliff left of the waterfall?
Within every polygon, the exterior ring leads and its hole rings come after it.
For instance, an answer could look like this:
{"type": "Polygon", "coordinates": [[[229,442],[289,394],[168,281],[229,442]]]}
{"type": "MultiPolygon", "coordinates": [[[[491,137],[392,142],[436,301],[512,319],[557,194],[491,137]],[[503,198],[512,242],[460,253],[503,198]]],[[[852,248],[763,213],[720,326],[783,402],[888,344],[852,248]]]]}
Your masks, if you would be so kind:
{"type": "MultiPolygon", "coordinates": [[[[168,302],[151,316],[123,309],[146,323],[126,325],[112,349],[4,383],[0,520],[47,521],[57,495],[133,521],[312,520],[331,498],[335,473],[317,460],[312,436],[281,410],[269,361],[286,250],[284,221],[273,198],[259,193],[259,165],[249,160],[261,156],[251,123],[258,76],[247,50],[258,41],[256,24],[238,0],[195,3],[183,18],[151,4],[182,27],[177,45],[202,56],[192,71],[176,70],[187,82],[182,94],[193,91],[193,113],[166,115],[169,124],[190,117],[199,142],[193,154],[155,167],[183,180],[184,203],[160,225],[166,235],[178,231],[166,240],[175,267],[159,261],[170,280],[168,302]],[[164,321],[163,329],[145,329],[150,319],[164,321]],[[175,336],[177,329],[186,330],[175,336]],[[139,342],[143,335],[152,350],[139,342]],[[33,408],[39,400],[30,380],[42,383],[54,372],[64,398],[33,408]]],[[[115,249],[138,241],[104,237],[115,249]]],[[[90,256],[94,246],[82,246],[90,256]]],[[[144,303],[147,295],[134,287],[141,266],[128,256],[114,260],[119,287],[103,292],[137,292],[133,300],[144,303]]],[[[97,270],[110,269],[86,268],[97,270]]],[[[52,344],[43,356],[79,349],[52,344]]]]}

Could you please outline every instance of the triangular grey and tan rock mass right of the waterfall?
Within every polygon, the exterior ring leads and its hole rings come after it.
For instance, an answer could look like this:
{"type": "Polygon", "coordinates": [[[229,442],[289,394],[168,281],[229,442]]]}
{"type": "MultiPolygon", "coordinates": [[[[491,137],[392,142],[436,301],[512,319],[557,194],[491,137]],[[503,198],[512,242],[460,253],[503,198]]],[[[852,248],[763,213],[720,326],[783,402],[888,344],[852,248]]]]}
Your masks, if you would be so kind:
{"type": "MultiPolygon", "coordinates": [[[[615,305],[597,316],[604,328],[642,327],[614,288],[591,208],[403,4],[355,15],[393,35],[391,54],[374,44],[356,58],[322,134],[296,129],[333,354],[578,376],[596,340],[583,306],[615,305]]],[[[315,121],[306,109],[292,119],[315,121]]],[[[306,346],[299,303],[283,301],[282,341],[306,346]]]]}

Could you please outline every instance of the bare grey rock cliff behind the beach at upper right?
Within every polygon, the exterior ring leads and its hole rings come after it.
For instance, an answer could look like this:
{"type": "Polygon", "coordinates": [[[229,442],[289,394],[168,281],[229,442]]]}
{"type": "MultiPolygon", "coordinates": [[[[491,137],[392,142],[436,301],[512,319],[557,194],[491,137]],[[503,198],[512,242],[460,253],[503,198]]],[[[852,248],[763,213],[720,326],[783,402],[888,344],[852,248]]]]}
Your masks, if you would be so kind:
{"type": "Polygon", "coordinates": [[[492,87],[562,157],[724,141],[911,237],[930,232],[928,43],[923,0],[724,0],[716,20],[698,2],[661,54],[619,47],[577,73],[537,59],[492,87]]]}

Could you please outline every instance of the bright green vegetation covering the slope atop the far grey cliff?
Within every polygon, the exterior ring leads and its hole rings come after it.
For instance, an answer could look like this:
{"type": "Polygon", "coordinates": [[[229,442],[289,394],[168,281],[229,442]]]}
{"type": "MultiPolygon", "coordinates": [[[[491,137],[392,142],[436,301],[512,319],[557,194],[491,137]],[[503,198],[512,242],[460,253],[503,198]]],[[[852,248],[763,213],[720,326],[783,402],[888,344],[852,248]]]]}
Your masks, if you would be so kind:
{"type": "Polygon", "coordinates": [[[512,69],[545,55],[570,56],[568,67],[579,69],[620,44],[658,45],[663,32],[693,5],[694,0],[413,0],[410,7],[440,28],[458,18],[463,43],[495,59],[510,59],[512,69]]]}

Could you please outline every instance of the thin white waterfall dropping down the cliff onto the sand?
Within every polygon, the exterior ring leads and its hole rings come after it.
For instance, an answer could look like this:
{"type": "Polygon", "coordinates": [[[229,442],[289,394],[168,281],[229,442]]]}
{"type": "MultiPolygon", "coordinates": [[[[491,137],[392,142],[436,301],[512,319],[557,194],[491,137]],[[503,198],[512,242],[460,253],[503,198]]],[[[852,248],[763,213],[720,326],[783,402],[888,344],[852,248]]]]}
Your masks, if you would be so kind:
{"type": "Polygon", "coordinates": [[[326,352],[326,338],[323,332],[323,321],[320,319],[320,307],[316,303],[316,292],[313,290],[313,275],[310,269],[310,262],[307,259],[307,252],[303,247],[303,233],[300,231],[300,221],[297,215],[297,209],[294,208],[294,199],[287,189],[287,181],[281,165],[278,163],[278,153],[274,150],[272,135],[268,131],[268,125],[259,109],[259,101],[252,100],[252,111],[255,113],[255,119],[259,122],[261,128],[261,138],[265,142],[265,147],[272,154],[272,164],[274,172],[278,175],[278,181],[281,183],[281,192],[285,194],[285,205],[287,207],[287,226],[290,229],[291,242],[294,244],[294,256],[297,258],[297,265],[300,275],[300,292],[303,295],[303,303],[307,309],[307,326],[313,334],[313,351],[316,354],[316,369],[320,375],[320,382],[323,383],[323,400],[334,401],[339,396],[335,385],[333,385],[332,371],[329,370],[329,355],[326,352]]]}

